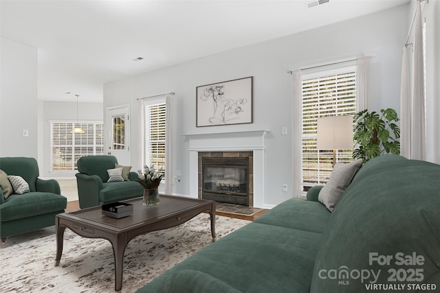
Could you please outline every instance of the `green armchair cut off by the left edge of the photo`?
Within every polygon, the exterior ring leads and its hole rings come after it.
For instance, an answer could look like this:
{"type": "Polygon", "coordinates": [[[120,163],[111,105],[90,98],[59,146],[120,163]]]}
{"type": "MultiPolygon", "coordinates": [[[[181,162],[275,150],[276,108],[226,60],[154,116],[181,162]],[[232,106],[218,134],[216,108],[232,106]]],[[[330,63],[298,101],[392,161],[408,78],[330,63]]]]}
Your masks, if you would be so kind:
{"type": "Polygon", "coordinates": [[[6,237],[12,235],[53,226],[55,215],[64,213],[67,205],[58,182],[38,178],[39,166],[33,158],[0,158],[0,169],[5,174],[21,176],[30,189],[25,194],[13,193],[6,199],[0,189],[1,241],[5,242],[6,237]]]}

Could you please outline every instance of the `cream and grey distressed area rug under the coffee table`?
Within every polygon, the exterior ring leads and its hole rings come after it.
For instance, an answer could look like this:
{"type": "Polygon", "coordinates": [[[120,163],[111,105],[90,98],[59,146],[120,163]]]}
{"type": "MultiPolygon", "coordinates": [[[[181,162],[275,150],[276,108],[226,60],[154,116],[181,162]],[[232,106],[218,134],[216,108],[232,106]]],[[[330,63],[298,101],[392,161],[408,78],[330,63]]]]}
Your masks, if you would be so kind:
{"type": "MultiPolygon", "coordinates": [[[[217,216],[217,239],[248,223],[217,216]]],[[[121,292],[135,292],[211,243],[206,213],[180,226],[135,237],[125,250],[121,292]]],[[[80,237],[66,228],[57,267],[54,226],[8,238],[0,244],[0,254],[0,292],[115,292],[113,250],[105,239],[80,237]]]]}

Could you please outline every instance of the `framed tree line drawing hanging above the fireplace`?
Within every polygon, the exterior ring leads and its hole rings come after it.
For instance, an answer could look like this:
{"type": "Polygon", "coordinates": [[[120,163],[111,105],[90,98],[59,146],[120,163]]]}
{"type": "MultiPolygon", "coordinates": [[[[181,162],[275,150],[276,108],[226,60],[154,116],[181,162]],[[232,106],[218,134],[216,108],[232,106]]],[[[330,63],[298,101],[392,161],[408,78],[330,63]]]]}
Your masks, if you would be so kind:
{"type": "Polygon", "coordinates": [[[196,126],[252,123],[253,77],[196,88],[196,126]]]}

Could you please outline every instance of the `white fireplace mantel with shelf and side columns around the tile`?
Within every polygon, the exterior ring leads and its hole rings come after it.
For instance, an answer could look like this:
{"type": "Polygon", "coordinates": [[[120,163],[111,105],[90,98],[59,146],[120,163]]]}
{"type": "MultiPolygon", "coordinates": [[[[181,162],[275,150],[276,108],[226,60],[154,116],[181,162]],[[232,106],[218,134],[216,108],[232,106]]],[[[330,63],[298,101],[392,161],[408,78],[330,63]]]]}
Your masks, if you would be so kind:
{"type": "Polygon", "coordinates": [[[190,196],[198,194],[198,152],[254,152],[254,207],[264,208],[265,134],[270,130],[184,134],[190,152],[190,196]]]}

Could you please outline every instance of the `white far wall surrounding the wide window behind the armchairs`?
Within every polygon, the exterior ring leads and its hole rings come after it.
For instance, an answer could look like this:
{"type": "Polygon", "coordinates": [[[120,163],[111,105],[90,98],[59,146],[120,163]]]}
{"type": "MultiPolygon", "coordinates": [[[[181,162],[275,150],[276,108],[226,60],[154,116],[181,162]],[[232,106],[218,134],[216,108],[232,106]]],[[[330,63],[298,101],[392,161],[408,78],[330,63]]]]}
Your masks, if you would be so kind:
{"type": "MultiPolygon", "coordinates": [[[[76,99],[74,102],[41,102],[42,153],[39,161],[40,176],[43,178],[75,178],[74,172],[50,172],[50,121],[76,121],[76,99]]],[[[103,121],[102,103],[78,103],[79,121],[103,121]]]]}

